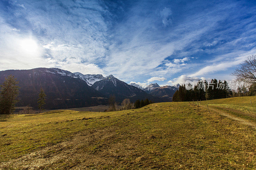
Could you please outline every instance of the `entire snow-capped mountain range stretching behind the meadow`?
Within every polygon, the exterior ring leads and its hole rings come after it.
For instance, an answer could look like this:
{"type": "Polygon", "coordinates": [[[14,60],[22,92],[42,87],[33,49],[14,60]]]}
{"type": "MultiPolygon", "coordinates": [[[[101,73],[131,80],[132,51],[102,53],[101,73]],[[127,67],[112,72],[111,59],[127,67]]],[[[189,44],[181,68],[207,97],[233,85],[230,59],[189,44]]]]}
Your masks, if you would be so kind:
{"type": "Polygon", "coordinates": [[[108,104],[111,94],[116,96],[117,104],[125,98],[136,100],[152,100],[155,102],[171,101],[177,86],[160,87],[157,83],[142,88],[101,74],[71,73],[58,68],[35,68],[30,70],[0,71],[0,84],[5,78],[13,75],[19,81],[20,101],[17,106],[30,105],[37,108],[38,93],[44,89],[47,109],[88,107],[108,104]]]}

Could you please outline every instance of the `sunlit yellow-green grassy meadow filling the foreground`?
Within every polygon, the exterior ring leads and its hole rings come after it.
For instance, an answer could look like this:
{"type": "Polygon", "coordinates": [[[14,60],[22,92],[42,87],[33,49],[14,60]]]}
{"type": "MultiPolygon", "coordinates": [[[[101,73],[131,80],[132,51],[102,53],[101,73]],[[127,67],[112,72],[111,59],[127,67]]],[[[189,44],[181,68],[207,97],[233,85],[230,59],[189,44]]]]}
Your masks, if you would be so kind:
{"type": "Polygon", "coordinates": [[[0,169],[255,169],[256,97],[195,104],[0,115],[0,169]]]}

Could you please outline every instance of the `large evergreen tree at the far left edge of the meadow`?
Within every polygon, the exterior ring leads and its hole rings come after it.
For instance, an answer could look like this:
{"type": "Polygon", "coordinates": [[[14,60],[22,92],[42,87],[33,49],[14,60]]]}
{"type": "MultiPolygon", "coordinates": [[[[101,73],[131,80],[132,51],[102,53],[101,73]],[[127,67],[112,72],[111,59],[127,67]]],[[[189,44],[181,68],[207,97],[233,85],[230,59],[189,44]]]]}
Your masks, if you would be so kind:
{"type": "Polygon", "coordinates": [[[0,85],[0,113],[1,114],[10,114],[15,109],[15,104],[19,101],[17,99],[19,95],[19,82],[16,81],[14,76],[10,75],[5,78],[3,85],[0,85]]]}

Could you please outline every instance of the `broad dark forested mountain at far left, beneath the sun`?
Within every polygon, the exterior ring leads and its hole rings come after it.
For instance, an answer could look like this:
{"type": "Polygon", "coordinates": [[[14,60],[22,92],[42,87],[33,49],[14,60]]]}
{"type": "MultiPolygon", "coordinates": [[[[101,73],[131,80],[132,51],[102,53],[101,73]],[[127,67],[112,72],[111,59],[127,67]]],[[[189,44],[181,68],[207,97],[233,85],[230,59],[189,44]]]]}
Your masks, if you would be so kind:
{"type": "Polygon", "coordinates": [[[30,105],[37,108],[40,88],[45,91],[47,109],[74,108],[106,104],[106,99],[87,83],[69,71],[58,68],[0,71],[0,84],[13,75],[19,81],[20,102],[17,106],[30,105]]]}

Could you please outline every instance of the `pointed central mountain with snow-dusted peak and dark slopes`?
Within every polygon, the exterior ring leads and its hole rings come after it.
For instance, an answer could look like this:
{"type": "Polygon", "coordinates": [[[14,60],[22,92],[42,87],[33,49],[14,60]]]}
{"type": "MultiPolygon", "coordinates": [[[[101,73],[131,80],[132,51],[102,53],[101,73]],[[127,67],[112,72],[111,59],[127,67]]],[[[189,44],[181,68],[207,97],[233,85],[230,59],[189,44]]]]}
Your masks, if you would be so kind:
{"type": "Polygon", "coordinates": [[[125,98],[129,98],[132,102],[146,98],[155,102],[162,101],[160,98],[153,97],[137,87],[128,85],[115,78],[113,75],[109,75],[105,79],[95,82],[91,87],[98,90],[106,97],[114,94],[118,102],[122,102],[125,98]]]}

